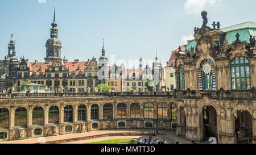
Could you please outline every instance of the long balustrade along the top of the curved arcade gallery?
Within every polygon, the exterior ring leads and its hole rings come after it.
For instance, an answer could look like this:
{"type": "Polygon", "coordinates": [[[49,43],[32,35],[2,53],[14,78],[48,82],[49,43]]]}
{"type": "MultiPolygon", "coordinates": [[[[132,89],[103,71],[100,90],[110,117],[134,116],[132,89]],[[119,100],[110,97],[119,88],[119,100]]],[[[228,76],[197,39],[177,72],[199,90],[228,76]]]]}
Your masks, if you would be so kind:
{"type": "Polygon", "coordinates": [[[67,98],[67,97],[174,97],[174,91],[157,92],[106,92],[106,93],[30,93],[30,94],[0,94],[1,99],[18,98],[67,98]]]}

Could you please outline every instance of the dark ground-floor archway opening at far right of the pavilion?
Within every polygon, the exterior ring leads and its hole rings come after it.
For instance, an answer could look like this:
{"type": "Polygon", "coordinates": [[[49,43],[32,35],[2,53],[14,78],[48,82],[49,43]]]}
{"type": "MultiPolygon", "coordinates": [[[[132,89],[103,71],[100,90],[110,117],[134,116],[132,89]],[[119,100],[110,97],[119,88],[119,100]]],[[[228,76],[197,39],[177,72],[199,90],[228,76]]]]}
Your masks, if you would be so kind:
{"type": "Polygon", "coordinates": [[[238,144],[250,144],[253,141],[253,118],[248,111],[234,113],[235,132],[238,144]]]}

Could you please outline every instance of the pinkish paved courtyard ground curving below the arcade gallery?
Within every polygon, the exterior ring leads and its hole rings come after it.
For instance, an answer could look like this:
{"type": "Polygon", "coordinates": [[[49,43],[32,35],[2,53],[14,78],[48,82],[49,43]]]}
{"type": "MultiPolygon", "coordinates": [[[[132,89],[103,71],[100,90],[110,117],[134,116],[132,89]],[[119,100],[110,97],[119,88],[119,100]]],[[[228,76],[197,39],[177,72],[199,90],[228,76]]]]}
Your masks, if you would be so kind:
{"type": "MultiPolygon", "coordinates": [[[[18,140],[18,141],[7,141],[2,142],[0,144],[35,144],[35,143],[51,143],[54,141],[65,141],[68,139],[67,142],[61,144],[84,144],[84,143],[92,143],[96,141],[103,141],[103,140],[112,140],[112,139],[138,139],[138,138],[148,138],[149,136],[145,136],[144,133],[152,133],[152,129],[118,129],[118,130],[105,130],[105,131],[92,131],[92,132],[84,132],[84,133],[75,133],[70,135],[60,135],[60,136],[53,136],[53,137],[41,137],[35,139],[26,139],[26,140],[18,140]],[[90,137],[90,136],[97,136],[97,135],[104,135],[104,134],[111,134],[111,133],[137,133],[134,136],[102,136],[102,137],[94,137],[92,139],[84,139],[84,140],[76,140],[83,137],[90,137]],[[43,138],[43,139],[42,139],[43,138]]],[[[174,141],[179,141],[181,144],[189,144],[190,141],[185,140],[185,137],[177,137],[176,131],[159,131],[159,135],[153,137],[153,139],[160,139],[166,140],[168,144],[173,144],[174,141]]],[[[208,142],[205,142],[208,143],[208,142]]],[[[204,143],[204,144],[205,144],[204,143]]]]}

